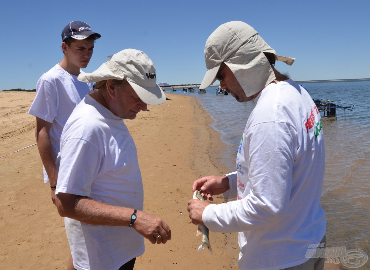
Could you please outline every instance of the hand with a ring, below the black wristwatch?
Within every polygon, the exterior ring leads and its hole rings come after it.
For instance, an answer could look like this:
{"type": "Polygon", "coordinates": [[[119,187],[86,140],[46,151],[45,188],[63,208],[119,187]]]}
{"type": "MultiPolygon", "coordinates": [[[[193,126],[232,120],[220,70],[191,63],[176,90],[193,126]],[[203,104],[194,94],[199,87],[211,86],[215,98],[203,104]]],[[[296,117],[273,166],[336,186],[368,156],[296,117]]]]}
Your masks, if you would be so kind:
{"type": "Polygon", "coordinates": [[[132,228],[152,244],[165,244],[167,240],[171,240],[171,229],[162,219],[143,211],[137,211],[136,216],[132,228]]]}

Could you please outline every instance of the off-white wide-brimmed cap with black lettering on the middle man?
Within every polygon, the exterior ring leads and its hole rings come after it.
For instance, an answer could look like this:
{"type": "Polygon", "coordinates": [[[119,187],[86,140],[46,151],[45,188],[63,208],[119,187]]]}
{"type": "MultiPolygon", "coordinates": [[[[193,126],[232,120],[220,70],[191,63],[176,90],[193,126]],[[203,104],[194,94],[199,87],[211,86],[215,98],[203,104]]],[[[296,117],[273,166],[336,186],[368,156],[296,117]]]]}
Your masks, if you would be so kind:
{"type": "Polygon", "coordinates": [[[142,51],[125,49],[92,73],[81,73],[78,80],[92,83],[102,80],[127,80],[139,98],[148,105],[159,105],[166,96],[157,84],[152,60],[142,51]]]}

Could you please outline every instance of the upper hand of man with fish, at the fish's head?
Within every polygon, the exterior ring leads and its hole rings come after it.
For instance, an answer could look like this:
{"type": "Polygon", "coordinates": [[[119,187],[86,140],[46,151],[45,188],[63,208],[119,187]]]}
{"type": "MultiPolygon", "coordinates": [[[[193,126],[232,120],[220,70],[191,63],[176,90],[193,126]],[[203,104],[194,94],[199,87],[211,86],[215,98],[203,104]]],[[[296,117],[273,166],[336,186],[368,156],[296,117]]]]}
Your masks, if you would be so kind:
{"type": "Polygon", "coordinates": [[[201,191],[203,198],[213,201],[213,195],[219,195],[230,189],[229,179],[227,176],[205,176],[193,183],[193,192],[201,191]]]}

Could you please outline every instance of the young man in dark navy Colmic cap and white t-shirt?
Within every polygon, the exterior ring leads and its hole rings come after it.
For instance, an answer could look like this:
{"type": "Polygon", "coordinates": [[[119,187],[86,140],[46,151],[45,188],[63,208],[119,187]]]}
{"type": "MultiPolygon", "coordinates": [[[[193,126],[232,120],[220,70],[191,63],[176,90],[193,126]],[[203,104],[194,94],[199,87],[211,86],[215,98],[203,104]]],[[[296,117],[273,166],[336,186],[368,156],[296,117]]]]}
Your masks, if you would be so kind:
{"type": "Polygon", "coordinates": [[[58,177],[60,136],[74,107],[93,87],[77,80],[87,67],[100,34],[82,21],[72,21],[62,34],[63,59],[44,73],[37,82],[36,97],[28,111],[36,116],[36,142],[44,165],[44,182],[50,183],[51,199],[55,203],[58,177]]]}

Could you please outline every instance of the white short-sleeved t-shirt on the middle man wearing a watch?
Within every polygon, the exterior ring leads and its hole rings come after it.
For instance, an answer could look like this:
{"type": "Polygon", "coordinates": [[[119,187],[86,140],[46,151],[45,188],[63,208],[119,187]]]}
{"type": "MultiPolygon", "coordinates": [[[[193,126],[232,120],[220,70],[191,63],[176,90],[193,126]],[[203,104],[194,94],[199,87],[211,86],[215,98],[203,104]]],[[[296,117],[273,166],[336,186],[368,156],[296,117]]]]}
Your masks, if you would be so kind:
{"type": "MultiPolygon", "coordinates": [[[[134,140],[123,119],[89,94],[74,109],[61,136],[58,193],[143,210],[134,140]]],[[[144,253],[144,237],[132,228],[64,220],[76,269],[119,269],[144,253]]]]}

